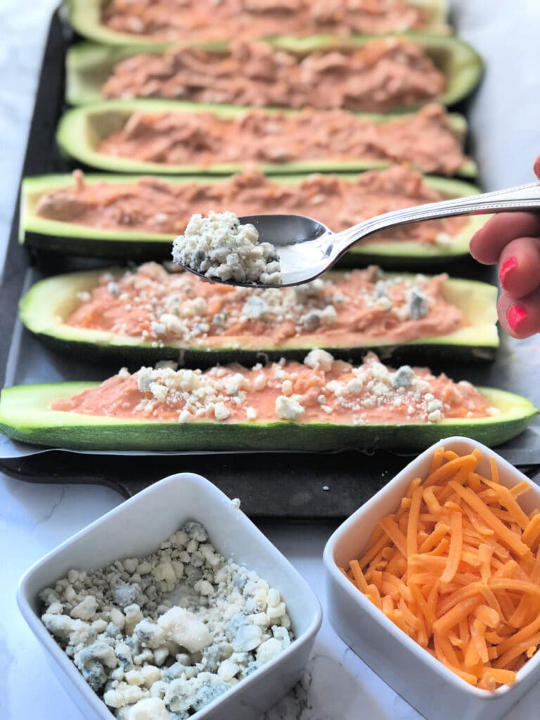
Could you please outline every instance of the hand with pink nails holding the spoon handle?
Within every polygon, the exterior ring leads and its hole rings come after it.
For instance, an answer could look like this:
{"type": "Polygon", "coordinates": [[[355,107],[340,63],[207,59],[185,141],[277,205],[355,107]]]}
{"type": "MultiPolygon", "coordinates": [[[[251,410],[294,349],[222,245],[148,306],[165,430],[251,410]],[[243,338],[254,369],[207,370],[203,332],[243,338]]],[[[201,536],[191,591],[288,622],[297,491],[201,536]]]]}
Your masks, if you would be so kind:
{"type": "MultiPolygon", "coordinates": [[[[540,157],[534,163],[540,179],[540,157]]],[[[501,212],[472,237],[473,258],[498,264],[497,312],[514,338],[540,333],[540,212],[501,212]]]]}

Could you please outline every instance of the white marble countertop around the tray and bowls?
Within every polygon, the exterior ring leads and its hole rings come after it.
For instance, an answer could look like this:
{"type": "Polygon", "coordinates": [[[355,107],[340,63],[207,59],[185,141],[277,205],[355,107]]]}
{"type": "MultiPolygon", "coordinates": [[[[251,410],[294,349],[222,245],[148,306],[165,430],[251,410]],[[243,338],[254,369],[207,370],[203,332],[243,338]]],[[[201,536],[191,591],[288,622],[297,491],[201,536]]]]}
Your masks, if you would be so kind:
{"type": "MultiPolygon", "coordinates": [[[[55,0],[0,0],[0,253],[5,247],[17,179],[30,122],[42,43],[55,0]]],[[[536,29],[537,0],[454,2],[460,34],[487,60],[487,75],[471,119],[489,124],[492,143],[477,139],[477,159],[490,188],[531,179],[540,150],[540,91],[536,29]],[[512,14],[513,13],[513,14],[512,14]],[[508,112],[513,107],[513,124],[508,112]],[[496,151],[493,148],[496,148],[496,151]]],[[[1,310],[0,310],[1,311],[1,310]]],[[[178,470],[181,471],[181,459],[178,470]]],[[[15,603],[17,580],[27,567],[61,541],[121,502],[104,487],[30,485],[0,475],[0,719],[81,720],[27,629],[15,603]]],[[[304,575],[325,607],[322,552],[330,523],[261,526],[304,575]]],[[[507,714],[528,720],[538,714],[540,687],[507,714]]],[[[318,635],[305,679],[265,720],[415,720],[420,716],[333,633],[328,621],[318,635]]]]}

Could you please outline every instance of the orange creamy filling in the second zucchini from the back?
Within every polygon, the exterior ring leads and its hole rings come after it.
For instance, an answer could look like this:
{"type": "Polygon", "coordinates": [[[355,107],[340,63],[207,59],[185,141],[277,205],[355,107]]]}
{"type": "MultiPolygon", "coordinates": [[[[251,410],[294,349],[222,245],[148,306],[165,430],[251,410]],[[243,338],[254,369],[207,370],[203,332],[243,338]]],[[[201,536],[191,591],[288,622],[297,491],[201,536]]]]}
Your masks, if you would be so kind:
{"type": "Polygon", "coordinates": [[[201,48],[141,53],[114,66],[103,94],[385,112],[433,100],[445,84],[421,45],[384,37],[358,50],[318,50],[304,58],[253,42],[234,42],[227,54],[201,48]]]}

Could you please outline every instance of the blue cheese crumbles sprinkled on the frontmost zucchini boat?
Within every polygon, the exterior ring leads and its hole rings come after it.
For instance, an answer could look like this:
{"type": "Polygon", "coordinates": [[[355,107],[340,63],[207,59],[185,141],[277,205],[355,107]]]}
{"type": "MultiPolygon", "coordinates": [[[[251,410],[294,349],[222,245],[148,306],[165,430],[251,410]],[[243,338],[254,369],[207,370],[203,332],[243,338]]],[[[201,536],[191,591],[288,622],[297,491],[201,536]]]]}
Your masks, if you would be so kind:
{"type": "MultiPolygon", "coordinates": [[[[409,415],[417,413],[422,422],[438,423],[444,420],[450,408],[447,402],[436,400],[433,396],[430,377],[423,379],[409,365],[392,370],[370,353],[361,365],[348,366],[354,377],[342,381],[332,377],[334,363],[333,356],[321,348],[313,348],[304,360],[304,364],[314,372],[330,374],[330,377],[320,378],[320,392],[315,397],[328,415],[343,408],[352,411],[354,423],[364,423],[368,420],[366,410],[383,405],[390,410],[410,405],[409,415]]],[[[254,395],[270,387],[278,391],[274,400],[276,419],[301,421],[302,416],[309,415],[308,410],[313,404],[313,398],[310,398],[312,389],[302,390],[302,384],[297,386],[298,373],[294,369],[290,369],[284,360],[273,364],[268,376],[258,372],[261,369],[261,365],[254,366],[253,375],[246,377],[241,372],[221,366],[206,372],[176,369],[176,364],[170,361],[158,364],[156,368],[143,367],[137,373],[137,382],[145,397],[136,409],[150,415],[156,413],[156,405],[161,402],[176,410],[181,423],[199,418],[226,422],[233,417],[254,422],[258,418],[258,410],[253,407],[257,404],[254,395]],[[241,415],[236,415],[238,409],[242,410],[241,415]]],[[[125,370],[120,375],[129,377],[125,370]]],[[[459,395],[460,385],[458,383],[454,387],[454,395],[459,395]]],[[[496,410],[490,412],[495,413],[496,410]]],[[[121,605],[124,600],[119,598],[118,602],[121,605]]],[[[135,595],[127,596],[125,602],[136,603],[135,595]]],[[[85,612],[84,608],[81,612],[85,612]]]]}

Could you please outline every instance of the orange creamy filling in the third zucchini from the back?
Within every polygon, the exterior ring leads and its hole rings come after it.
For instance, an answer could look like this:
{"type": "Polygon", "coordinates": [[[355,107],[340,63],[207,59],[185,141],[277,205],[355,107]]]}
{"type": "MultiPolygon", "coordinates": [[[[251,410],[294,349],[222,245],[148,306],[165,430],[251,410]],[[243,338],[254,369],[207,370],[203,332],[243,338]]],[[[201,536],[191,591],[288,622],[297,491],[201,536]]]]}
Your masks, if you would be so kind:
{"type": "Polygon", "coordinates": [[[466,159],[448,114],[438,105],[379,123],[344,110],[253,110],[230,118],[206,111],[138,111],[97,150],[131,160],[203,166],[362,158],[410,162],[444,175],[454,174],[466,159]]]}

